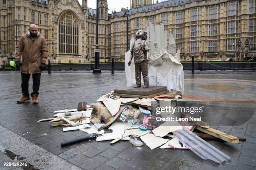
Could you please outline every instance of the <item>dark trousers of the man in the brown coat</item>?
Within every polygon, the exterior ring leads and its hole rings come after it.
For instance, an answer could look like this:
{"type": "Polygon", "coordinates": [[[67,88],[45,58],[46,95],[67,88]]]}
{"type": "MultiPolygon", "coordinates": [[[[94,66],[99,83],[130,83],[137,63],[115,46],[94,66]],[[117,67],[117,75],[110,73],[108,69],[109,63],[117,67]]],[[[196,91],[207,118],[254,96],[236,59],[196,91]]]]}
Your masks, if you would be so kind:
{"type": "MultiPolygon", "coordinates": [[[[21,73],[21,92],[25,95],[29,96],[28,92],[28,81],[30,78],[30,74],[21,73]]],[[[40,86],[40,79],[41,79],[41,73],[32,74],[33,78],[33,92],[31,93],[31,96],[33,94],[39,94],[39,86],[40,86]]]]}

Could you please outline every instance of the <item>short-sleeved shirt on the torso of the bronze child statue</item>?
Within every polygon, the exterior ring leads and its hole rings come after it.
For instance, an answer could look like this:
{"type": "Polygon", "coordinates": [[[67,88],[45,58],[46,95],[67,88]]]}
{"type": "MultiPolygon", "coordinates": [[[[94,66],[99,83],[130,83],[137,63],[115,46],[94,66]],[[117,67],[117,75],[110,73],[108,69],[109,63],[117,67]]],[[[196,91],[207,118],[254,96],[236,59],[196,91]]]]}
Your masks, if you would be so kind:
{"type": "Polygon", "coordinates": [[[148,43],[145,40],[136,40],[133,42],[131,52],[133,52],[134,63],[141,63],[147,60],[145,55],[146,50],[150,50],[150,48],[148,47],[148,43]],[[143,43],[142,45],[141,42],[143,43]]]}

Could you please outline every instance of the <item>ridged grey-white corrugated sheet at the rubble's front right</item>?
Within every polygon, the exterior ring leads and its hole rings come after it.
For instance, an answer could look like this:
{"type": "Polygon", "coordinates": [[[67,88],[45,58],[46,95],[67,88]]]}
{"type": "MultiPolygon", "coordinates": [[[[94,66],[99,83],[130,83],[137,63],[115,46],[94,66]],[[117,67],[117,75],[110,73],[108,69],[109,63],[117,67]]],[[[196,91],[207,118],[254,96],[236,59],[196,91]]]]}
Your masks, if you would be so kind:
{"type": "Polygon", "coordinates": [[[202,140],[202,138],[198,137],[186,128],[182,128],[182,130],[177,130],[172,133],[176,138],[178,138],[179,142],[181,142],[183,146],[187,146],[202,159],[213,160],[219,164],[230,159],[228,155],[225,155],[223,152],[213,147],[205,140],[202,140]]]}

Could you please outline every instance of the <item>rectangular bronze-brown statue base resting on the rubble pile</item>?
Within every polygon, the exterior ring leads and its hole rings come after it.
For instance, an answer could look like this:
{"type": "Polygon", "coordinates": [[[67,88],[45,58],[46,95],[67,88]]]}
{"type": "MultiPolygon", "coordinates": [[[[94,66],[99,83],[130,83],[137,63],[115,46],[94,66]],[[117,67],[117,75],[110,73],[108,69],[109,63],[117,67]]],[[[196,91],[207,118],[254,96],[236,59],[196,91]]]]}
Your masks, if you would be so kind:
{"type": "Polygon", "coordinates": [[[130,98],[151,98],[169,92],[166,86],[152,86],[148,88],[133,88],[133,86],[115,89],[113,95],[130,98]]]}

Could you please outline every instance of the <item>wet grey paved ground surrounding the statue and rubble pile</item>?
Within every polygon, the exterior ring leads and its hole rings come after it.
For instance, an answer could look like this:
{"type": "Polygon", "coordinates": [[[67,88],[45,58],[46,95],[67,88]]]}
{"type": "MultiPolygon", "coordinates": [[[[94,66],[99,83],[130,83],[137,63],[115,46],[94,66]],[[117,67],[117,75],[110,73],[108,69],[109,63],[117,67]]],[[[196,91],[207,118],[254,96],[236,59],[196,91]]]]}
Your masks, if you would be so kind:
{"type": "MultiPolygon", "coordinates": [[[[241,107],[255,110],[255,72],[195,73],[191,75],[185,71],[184,98],[187,100],[224,101],[230,108],[240,105],[238,112],[241,112],[241,107]]],[[[254,113],[242,125],[218,127],[226,133],[246,137],[245,142],[230,144],[220,140],[207,140],[230,156],[231,161],[223,165],[202,160],[190,150],[150,150],[146,145],[134,147],[128,141],[110,145],[110,141],[91,140],[61,148],[61,142],[79,138],[85,133],[78,130],[63,132],[61,127],[51,127],[48,122],[37,121],[52,117],[54,110],[77,108],[78,102],[84,101],[92,104],[101,95],[117,87],[125,87],[125,74],[122,71],[114,75],[110,72],[93,75],[88,71],[52,72],[51,75],[44,73],[41,75],[38,105],[32,105],[31,101],[20,105],[16,103],[21,97],[19,73],[0,72],[0,82],[0,169],[3,168],[4,161],[15,161],[18,157],[25,158],[21,161],[26,160],[34,169],[56,169],[59,167],[58,162],[65,165],[61,169],[71,169],[72,165],[73,169],[85,170],[256,169],[254,113]],[[38,160],[41,160],[40,163],[38,160]],[[51,164],[53,166],[49,166],[51,164]]],[[[30,92],[31,87],[32,81],[30,92]]],[[[220,103],[215,103],[213,107],[216,105],[220,103]]],[[[14,168],[16,167],[10,169],[14,168]]]]}

